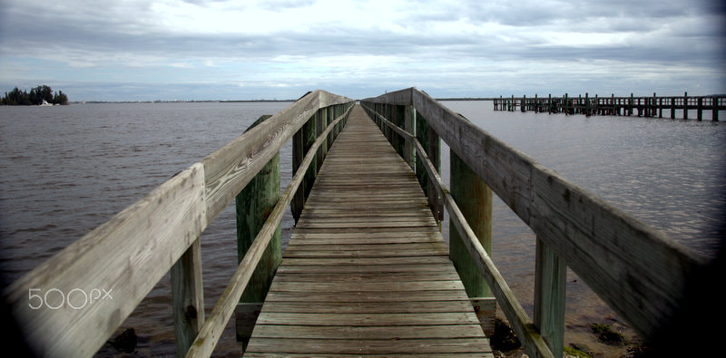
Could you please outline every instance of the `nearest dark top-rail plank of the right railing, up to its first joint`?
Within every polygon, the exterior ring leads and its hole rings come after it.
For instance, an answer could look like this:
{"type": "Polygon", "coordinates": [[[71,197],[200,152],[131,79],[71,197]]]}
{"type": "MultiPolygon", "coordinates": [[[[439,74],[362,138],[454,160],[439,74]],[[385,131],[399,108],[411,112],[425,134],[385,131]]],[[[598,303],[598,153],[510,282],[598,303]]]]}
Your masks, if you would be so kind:
{"type": "Polygon", "coordinates": [[[692,251],[556,172],[538,167],[531,227],[643,337],[654,339],[682,309],[692,251]]]}

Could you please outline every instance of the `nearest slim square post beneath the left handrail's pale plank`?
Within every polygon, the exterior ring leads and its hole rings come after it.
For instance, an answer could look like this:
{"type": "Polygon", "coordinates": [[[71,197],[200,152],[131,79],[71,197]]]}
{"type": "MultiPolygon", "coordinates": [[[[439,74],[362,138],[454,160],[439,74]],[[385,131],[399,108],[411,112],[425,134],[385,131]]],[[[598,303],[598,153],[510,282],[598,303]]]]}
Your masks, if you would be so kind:
{"type": "Polygon", "coordinates": [[[197,338],[201,325],[204,324],[199,237],[172,266],[171,274],[176,356],[183,357],[197,338]]]}

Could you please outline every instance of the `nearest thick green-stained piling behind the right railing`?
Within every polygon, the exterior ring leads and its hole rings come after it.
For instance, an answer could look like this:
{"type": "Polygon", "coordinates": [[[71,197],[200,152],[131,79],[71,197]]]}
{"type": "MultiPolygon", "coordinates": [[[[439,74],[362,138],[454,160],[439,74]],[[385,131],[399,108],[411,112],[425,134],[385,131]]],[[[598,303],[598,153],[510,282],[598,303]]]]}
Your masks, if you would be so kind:
{"type": "MultiPolygon", "coordinates": [[[[458,155],[450,152],[451,196],[487,254],[492,252],[492,189],[458,155]]],[[[449,226],[449,255],[469,297],[488,297],[491,290],[476,268],[454,223],[449,226]]]]}

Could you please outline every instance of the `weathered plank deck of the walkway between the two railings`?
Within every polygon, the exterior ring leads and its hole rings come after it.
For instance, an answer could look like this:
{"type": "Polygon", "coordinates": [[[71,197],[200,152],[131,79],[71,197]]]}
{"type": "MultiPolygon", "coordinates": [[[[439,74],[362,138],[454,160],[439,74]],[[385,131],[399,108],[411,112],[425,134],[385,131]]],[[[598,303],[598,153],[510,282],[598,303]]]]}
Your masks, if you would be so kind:
{"type": "Polygon", "coordinates": [[[414,172],[356,106],[245,356],[491,352],[414,172]]]}

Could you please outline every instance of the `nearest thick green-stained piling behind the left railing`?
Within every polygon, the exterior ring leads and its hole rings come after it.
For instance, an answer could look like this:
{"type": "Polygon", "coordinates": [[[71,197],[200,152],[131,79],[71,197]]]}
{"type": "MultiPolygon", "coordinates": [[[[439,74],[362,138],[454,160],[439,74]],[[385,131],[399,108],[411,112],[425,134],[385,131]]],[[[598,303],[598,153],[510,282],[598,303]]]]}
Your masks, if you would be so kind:
{"type": "MultiPolygon", "coordinates": [[[[248,131],[270,116],[262,116],[255,121],[248,131]]],[[[260,228],[280,199],[280,153],[260,170],[260,172],[247,184],[235,198],[237,207],[237,258],[241,262],[252,241],[257,237],[260,228]]],[[[240,304],[259,305],[264,301],[272,283],[272,277],[282,260],[282,242],[280,239],[280,226],[270,239],[260,263],[250,278],[250,283],[240,298],[240,304]]],[[[242,310],[244,311],[244,310],[242,310]]],[[[256,317],[254,317],[256,320],[256,317]]],[[[247,345],[254,327],[251,324],[239,324],[237,321],[237,340],[247,345]]]]}

